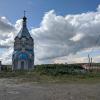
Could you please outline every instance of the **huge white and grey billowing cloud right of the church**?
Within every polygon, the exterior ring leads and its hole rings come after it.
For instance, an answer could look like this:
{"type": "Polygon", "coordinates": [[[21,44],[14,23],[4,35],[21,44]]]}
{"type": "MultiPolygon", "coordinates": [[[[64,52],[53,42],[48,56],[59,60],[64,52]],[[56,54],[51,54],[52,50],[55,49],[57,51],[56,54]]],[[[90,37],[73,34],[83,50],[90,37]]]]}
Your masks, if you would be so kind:
{"type": "Polygon", "coordinates": [[[51,10],[45,13],[40,27],[32,29],[31,33],[38,61],[51,62],[58,57],[75,55],[99,47],[96,41],[100,37],[100,12],[61,16],[51,10]]]}

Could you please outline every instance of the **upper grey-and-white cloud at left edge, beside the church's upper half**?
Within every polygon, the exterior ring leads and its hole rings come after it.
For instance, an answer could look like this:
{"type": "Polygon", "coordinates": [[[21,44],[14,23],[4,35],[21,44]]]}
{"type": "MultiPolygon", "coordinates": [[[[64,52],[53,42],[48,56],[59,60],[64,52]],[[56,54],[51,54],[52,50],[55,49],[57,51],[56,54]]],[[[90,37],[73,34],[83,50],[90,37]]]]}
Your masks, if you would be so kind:
{"type": "Polygon", "coordinates": [[[6,17],[0,17],[0,48],[9,48],[16,29],[6,17]]]}

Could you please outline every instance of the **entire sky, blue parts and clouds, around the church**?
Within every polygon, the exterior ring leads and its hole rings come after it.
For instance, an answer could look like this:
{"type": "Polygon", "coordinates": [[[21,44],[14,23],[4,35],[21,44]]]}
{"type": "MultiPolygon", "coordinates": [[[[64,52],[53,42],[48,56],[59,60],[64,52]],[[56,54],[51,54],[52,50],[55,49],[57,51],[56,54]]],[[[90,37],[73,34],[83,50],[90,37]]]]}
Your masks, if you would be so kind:
{"type": "Polygon", "coordinates": [[[35,64],[100,62],[100,0],[0,0],[0,59],[11,64],[23,12],[35,42],[35,64]],[[48,53],[49,52],[49,53],[48,53]]]}

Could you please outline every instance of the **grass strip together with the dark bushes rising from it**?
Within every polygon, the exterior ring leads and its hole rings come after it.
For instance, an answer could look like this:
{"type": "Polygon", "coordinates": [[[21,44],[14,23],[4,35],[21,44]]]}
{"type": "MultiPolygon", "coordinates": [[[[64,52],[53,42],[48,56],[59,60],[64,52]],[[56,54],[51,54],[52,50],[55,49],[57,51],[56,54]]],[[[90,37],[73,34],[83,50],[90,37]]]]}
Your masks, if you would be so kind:
{"type": "Polygon", "coordinates": [[[32,71],[1,71],[0,78],[17,78],[18,82],[100,83],[99,72],[84,71],[80,65],[43,65],[32,71]]]}

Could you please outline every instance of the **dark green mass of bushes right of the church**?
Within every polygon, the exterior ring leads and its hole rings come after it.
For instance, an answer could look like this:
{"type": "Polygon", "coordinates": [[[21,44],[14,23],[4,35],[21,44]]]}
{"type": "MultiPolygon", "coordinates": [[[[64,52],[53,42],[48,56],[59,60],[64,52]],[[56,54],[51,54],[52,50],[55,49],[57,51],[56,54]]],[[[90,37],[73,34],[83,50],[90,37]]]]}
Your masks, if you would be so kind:
{"type": "Polygon", "coordinates": [[[64,64],[47,64],[37,65],[35,70],[41,74],[48,75],[64,75],[64,74],[78,74],[82,73],[81,65],[64,65],[64,64]]]}

